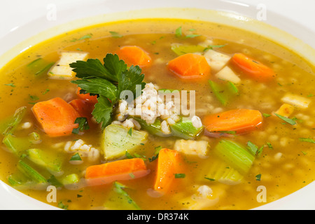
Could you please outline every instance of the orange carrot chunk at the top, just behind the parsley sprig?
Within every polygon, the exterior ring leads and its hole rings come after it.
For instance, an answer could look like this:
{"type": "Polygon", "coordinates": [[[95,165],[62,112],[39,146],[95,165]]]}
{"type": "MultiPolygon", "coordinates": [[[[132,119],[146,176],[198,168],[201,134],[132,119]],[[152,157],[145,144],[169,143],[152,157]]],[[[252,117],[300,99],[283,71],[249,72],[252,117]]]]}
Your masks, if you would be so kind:
{"type": "Polygon", "coordinates": [[[151,57],[142,48],[138,46],[124,46],[120,48],[117,52],[120,59],[123,59],[127,66],[148,66],[151,64],[151,57]]]}

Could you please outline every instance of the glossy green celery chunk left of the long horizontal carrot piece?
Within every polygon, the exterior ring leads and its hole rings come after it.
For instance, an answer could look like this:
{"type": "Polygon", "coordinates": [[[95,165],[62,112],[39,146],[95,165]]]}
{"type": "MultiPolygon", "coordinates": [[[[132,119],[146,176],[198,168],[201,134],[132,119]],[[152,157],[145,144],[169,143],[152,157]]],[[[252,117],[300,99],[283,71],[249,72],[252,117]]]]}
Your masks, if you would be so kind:
{"type": "Polygon", "coordinates": [[[52,156],[38,148],[30,148],[25,151],[25,153],[31,162],[47,169],[50,174],[59,176],[59,174],[62,173],[62,162],[55,156],[52,156]]]}

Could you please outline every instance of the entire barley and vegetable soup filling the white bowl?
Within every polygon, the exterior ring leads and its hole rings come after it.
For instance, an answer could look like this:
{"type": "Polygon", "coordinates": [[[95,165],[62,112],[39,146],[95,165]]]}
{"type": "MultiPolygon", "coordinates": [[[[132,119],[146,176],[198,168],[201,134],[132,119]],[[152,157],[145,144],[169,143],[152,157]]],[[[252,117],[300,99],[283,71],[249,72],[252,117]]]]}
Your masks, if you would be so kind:
{"type": "Polygon", "coordinates": [[[209,22],[71,31],[1,69],[0,178],[62,209],[259,207],[314,181],[314,79],[209,22]]]}

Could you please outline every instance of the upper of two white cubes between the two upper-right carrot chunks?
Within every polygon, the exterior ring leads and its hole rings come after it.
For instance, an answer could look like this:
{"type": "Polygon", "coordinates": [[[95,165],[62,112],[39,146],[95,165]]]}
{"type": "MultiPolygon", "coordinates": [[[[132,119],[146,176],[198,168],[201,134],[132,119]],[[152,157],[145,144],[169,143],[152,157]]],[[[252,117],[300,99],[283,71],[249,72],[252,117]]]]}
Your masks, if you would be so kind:
{"type": "Polygon", "coordinates": [[[214,73],[223,69],[223,67],[228,64],[231,59],[230,55],[225,55],[221,52],[217,52],[215,50],[207,50],[204,53],[204,57],[206,57],[209,65],[211,66],[211,71],[214,73]]]}

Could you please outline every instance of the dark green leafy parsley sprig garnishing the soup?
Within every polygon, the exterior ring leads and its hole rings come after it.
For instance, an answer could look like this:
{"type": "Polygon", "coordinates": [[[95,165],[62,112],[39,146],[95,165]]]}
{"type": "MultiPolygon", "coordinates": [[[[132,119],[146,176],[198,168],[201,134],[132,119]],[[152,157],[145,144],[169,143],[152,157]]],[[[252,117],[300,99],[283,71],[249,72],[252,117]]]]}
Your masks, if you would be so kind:
{"type": "Polygon", "coordinates": [[[136,98],[137,85],[141,86],[141,90],[146,85],[139,66],[132,65],[127,69],[127,64],[113,54],[107,54],[103,61],[104,64],[99,59],[87,59],[86,62],[76,61],[70,64],[78,78],[71,83],[78,85],[82,89],[81,93],[97,95],[98,102],[92,115],[97,123],[101,123],[102,129],[113,120],[114,108],[120,96],[124,96],[124,91],[131,91],[136,98]]]}

